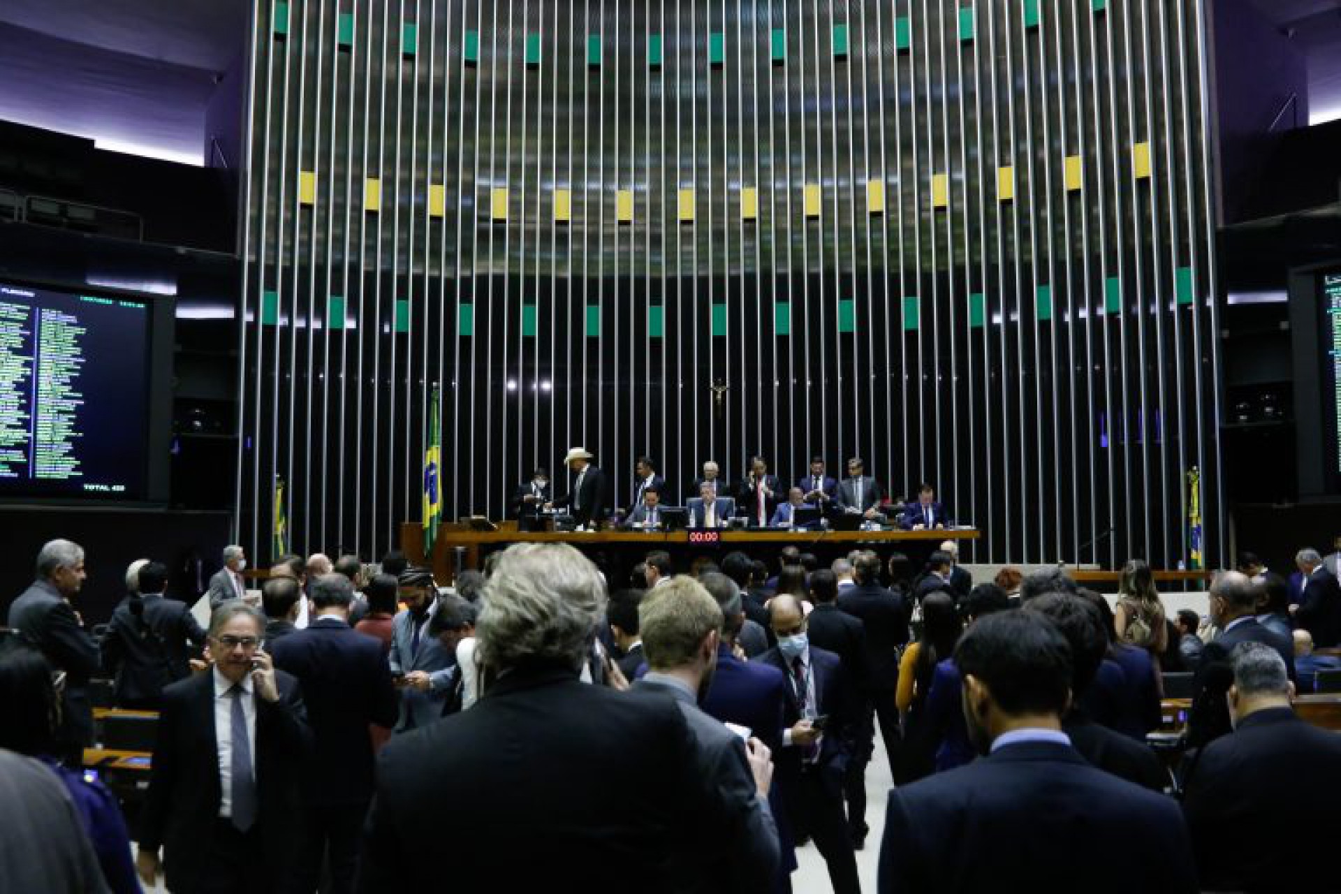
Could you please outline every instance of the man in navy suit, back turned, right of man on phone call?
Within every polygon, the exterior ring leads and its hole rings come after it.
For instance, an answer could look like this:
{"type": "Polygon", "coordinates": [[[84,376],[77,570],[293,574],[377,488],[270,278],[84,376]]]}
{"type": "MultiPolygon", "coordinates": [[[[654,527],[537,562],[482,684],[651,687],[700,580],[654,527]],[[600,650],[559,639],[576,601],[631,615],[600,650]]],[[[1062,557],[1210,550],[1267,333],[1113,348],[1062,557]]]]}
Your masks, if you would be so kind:
{"type": "Polygon", "coordinates": [[[311,583],[315,617],[274,646],[275,666],[303,686],[315,753],[304,765],[303,890],[315,890],[327,862],[331,891],[354,890],[358,835],[373,797],[369,724],[390,728],[398,712],[382,643],[349,626],[354,584],[338,574],[311,583]],[[335,781],[338,780],[338,783],[335,781]]]}

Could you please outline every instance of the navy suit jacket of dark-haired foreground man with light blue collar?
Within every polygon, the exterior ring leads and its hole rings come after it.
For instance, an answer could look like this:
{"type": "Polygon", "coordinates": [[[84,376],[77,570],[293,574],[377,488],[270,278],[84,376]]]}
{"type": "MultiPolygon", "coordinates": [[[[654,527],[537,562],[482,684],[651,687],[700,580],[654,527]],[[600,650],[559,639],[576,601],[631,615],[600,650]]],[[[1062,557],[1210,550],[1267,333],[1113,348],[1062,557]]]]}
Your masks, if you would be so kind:
{"type": "Polygon", "coordinates": [[[1177,804],[1043,741],[889,793],[880,891],[1081,889],[1196,891],[1177,804]]]}

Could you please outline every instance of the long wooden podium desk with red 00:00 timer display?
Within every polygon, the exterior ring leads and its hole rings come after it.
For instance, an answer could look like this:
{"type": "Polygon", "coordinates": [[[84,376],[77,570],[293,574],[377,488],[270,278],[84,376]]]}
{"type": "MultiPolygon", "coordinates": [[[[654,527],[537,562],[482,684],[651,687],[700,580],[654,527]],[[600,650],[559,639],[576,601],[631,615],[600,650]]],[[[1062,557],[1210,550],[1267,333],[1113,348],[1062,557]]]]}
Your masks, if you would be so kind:
{"type": "MultiPolygon", "coordinates": [[[[498,531],[475,531],[463,524],[445,524],[439,531],[432,560],[433,576],[439,583],[452,579],[455,550],[465,550],[465,568],[480,567],[480,548],[504,547],[514,543],[567,543],[574,547],[603,547],[611,551],[648,552],[654,548],[701,550],[730,552],[731,550],[782,548],[797,546],[814,550],[841,544],[857,548],[862,544],[889,547],[904,543],[920,552],[931,552],[936,544],[945,540],[976,540],[976,528],[952,531],[783,531],[772,528],[721,528],[717,531],[593,531],[590,533],[555,531],[518,531],[515,521],[506,521],[498,531]],[[704,535],[716,535],[717,540],[705,540],[704,535]]],[[[401,550],[412,560],[428,560],[424,555],[424,528],[417,521],[401,525],[401,550]]],[[[640,556],[641,558],[641,556],[640,556]]]]}

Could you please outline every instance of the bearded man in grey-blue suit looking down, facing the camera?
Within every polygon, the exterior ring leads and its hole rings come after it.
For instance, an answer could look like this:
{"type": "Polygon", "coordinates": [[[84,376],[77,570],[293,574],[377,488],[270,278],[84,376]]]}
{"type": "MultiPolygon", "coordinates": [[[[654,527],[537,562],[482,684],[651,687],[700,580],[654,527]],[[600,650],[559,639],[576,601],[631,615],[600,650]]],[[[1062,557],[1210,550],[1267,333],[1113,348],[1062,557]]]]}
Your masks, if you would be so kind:
{"type": "Polygon", "coordinates": [[[429,633],[437,586],[428,568],[406,568],[400,578],[405,610],[392,621],[392,678],[401,690],[396,732],[424,726],[443,716],[452,689],[456,658],[429,633]]]}

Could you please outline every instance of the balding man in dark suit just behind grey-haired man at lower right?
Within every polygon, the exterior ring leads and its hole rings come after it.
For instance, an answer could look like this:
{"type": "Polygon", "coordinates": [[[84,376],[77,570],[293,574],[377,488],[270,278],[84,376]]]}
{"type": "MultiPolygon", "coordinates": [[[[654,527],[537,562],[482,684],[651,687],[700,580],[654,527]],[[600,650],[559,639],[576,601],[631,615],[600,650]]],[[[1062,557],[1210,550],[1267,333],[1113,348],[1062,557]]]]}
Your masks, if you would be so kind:
{"type": "Polygon", "coordinates": [[[1222,633],[1202,653],[1193,682],[1196,694],[1188,712],[1188,744],[1192,747],[1203,747],[1231,729],[1224,696],[1234,680],[1230,653],[1240,642],[1261,642],[1275,649],[1294,682],[1294,643],[1258,623],[1257,600],[1252,580],[1239,571],[1226,571],[1211,582],[1211,621],[1222,633]]]}

